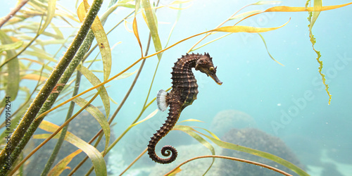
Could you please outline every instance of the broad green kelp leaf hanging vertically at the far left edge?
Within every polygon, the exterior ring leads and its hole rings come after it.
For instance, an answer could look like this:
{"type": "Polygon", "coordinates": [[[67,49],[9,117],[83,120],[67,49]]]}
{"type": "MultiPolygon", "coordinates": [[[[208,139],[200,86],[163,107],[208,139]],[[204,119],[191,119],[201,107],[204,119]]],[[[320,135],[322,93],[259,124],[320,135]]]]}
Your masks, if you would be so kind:
{"type": "MultiPolygon", "coordinates": [[[[13,41],[10,37],[0,30],[0,40],[1,44],[13,44],[13,41]]],[[[14,49],[6,51],[6,59],[12,58],[16,55],[14,49]]],[[[18,62],[18,58],[13,58],[11,61],[6,63],[7,65],[7,85],[6,85],[6,96],[3,101],[1,101],[0,107],[5,106],[6,97],[10,97],[9,101],[14,101],[18,94],[19,84],[20,84],[20,63],[18,62]]]]}

